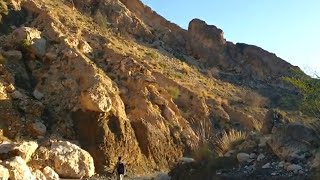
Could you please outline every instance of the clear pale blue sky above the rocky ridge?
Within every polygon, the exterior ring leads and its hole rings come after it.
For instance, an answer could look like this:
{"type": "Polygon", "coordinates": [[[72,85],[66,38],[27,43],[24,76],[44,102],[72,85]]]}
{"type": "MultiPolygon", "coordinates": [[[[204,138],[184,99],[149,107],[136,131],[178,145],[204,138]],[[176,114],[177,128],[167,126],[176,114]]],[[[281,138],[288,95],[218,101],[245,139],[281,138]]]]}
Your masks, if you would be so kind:
{"type": "MultiPolygon", "coordinates": [[[[320,74],[320,0],[142,0],[184,29],[193,18],[320,74]]],[[[308,72],[309,71],[309,72],[308,72]]]]}

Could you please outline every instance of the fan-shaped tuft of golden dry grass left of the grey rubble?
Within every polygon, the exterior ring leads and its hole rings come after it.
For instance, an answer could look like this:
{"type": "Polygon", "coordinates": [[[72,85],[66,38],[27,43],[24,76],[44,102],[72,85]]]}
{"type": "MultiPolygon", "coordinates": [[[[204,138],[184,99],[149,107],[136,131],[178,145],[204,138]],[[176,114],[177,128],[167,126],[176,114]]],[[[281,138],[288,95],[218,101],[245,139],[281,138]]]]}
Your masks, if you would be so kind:
{"type": "Polygon", "coordinates": [[[229,132],[224,131],[221,137],[215,139],[215,151],[219,156],[224,155],[229,150],[232,150],[235,145],[244,140],[247,133],[231,129],[229,132]]]}

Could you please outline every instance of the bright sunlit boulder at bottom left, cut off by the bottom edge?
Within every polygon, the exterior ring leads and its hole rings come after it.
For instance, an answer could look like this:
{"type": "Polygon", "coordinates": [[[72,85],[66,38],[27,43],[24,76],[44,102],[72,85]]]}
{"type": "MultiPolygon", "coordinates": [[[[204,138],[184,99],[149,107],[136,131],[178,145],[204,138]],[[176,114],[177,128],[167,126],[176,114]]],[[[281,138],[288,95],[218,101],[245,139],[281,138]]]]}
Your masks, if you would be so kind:
{"type": "Polygon", "coordinates": [[[36,180],[26,161],[20,156],[4,161],[3,165],[9,170],[10,180],[36,180]]]}

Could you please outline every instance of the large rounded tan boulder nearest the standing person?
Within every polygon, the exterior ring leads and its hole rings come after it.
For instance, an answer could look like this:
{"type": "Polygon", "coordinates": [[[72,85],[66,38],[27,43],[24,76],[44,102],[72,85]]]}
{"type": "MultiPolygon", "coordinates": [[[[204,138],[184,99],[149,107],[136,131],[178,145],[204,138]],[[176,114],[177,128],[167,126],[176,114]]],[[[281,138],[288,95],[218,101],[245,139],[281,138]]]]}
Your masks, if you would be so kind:
{"type": "Polygon", "coordinates": [[[53,142],[50,153],[60,177],[87,178],[94,175],[93,158],[77,145],[68,141],[53,142]]]}

